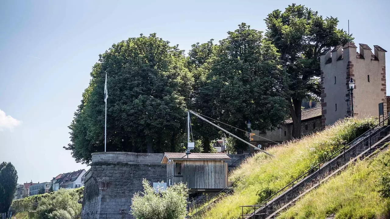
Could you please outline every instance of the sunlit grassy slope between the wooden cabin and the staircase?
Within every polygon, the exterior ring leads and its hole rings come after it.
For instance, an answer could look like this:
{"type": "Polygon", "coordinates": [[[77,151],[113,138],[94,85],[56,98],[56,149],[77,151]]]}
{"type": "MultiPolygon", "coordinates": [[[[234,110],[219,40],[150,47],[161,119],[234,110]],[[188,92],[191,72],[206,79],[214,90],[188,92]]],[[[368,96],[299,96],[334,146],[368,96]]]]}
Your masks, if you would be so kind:
{"type": "Polygon", "coordinates": [[[243,177],[234,193],[199,218],[238,218],[240,205],[254,205],[265,200],[375,123],[371,119],[348,119],[300,141],[269,148],[268,152],[275,157],[269,158],[263,153],[254,155],[232,173],[232,180],[243,177]]]}

